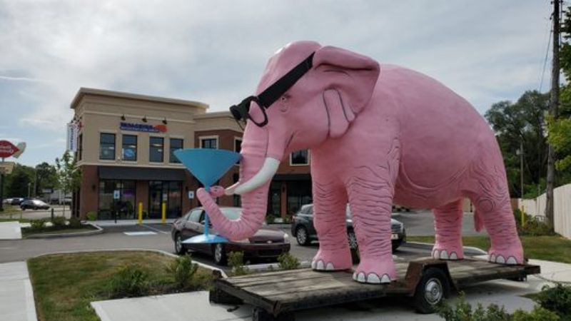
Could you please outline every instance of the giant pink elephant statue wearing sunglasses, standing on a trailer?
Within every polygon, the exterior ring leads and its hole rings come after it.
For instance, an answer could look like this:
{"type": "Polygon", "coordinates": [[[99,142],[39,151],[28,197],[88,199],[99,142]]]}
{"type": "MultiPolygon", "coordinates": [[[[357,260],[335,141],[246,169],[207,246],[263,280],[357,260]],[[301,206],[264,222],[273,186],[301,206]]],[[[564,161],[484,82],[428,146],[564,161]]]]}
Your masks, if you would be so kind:
{"type": "Polygon", "coordinates": [[[261,227],[268,187],[283,158],[311,153],[314,270],[352,267],[345,228],[350,204],[360,263],[358,282],[395,280],[390,215],[393,203],[432,208],[433,257],[463,259],[462,203],[475,205],[475,228],[491,238],[489,260],[523,263],[505,168],[484,118],[433,78],[333,46],[298,41],[268,61],[256,96],[232,106],[246,121],[240,179],[226,189],[198,190],[218,233],[248,238],[261,227]],[[213,198],[242,195],[238,220],[213,198]]]}

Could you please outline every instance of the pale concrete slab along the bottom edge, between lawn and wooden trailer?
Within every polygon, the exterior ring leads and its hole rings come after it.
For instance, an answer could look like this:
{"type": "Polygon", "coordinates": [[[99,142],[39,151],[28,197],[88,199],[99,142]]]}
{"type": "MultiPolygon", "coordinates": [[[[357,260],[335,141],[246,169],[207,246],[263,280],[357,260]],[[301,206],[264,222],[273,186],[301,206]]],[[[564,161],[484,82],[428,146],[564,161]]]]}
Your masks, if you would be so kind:
{"type": "Polygon", "coordinates": [[[101,321],[173,320],[216,321],[251,319],[251,309],[244,305],[233,310],[229,305],[208,302],[208,292],[187,292],[156,297],[91,302],[101,321]]]}

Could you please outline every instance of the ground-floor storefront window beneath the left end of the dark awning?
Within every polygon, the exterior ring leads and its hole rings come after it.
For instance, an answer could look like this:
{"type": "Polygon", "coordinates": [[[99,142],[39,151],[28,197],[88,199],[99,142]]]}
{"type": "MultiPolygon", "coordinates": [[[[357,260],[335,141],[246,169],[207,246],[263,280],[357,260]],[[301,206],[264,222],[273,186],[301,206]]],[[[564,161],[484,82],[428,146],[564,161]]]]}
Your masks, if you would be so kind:
{"type": "Polygon", "coordinates": [[[99,180],[98,219],[134,219],[136,208],[135,180],[99,180]],[[117,191],[117,192],[116,192],[117,191]],[[119,198],[113,196],[118,193],[119,198]]]}

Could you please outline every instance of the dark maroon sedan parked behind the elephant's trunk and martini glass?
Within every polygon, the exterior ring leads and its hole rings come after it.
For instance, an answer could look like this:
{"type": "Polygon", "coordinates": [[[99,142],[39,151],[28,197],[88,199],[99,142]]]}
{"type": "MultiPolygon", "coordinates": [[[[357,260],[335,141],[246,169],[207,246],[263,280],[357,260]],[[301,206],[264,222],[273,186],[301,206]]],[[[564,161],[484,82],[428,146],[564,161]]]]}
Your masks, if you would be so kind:
{"type": "MultiPolygon", "coordinates": [[[[220,210],[226,218],[231,220],[240,218],[242,213],[241,208],[221,207],[220,210]]],[[[245,240],[232,240],[228,243],[216,244],[183,244],[183,240],[203,234],[204,218],[203,208],[194,208],[173,223],[171,236],[176,253],[183,254],[187,250],[194,250],[213,255],[214,263],[217,265],[226,265],[227,255],[230,252],[241,251],[244,253],[244,258],[275,260],[279,255],[290,250],[288,235],[281,230],[267,226],[263,226],[251,238],[245,240]]],[[[216,232],[211,230],[211,233],[216,232]]]]}

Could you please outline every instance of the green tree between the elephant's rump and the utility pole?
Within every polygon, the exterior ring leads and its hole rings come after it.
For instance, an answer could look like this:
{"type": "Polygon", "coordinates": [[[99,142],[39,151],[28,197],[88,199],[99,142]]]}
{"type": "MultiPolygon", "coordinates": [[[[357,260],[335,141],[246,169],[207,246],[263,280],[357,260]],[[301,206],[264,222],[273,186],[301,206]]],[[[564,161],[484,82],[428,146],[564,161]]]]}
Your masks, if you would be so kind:
{"type": "MultiPolygon", "coordinates": [[[[494,103],[485,118],[496,133],[504,158],[510,195],[521,197],[520,146],[523,146],[525,197],[537,195],[537,186],[545,185],[547,175],[547,138],[545,113],[549,93],[526,91],[515,103],[494,103]]],[[[540,189],[542,193],[543,188],[540,189]]]]}

